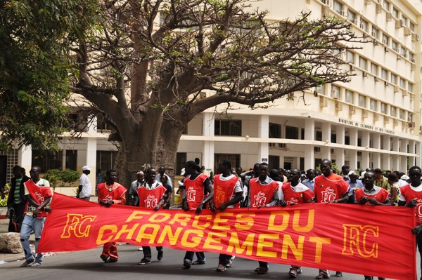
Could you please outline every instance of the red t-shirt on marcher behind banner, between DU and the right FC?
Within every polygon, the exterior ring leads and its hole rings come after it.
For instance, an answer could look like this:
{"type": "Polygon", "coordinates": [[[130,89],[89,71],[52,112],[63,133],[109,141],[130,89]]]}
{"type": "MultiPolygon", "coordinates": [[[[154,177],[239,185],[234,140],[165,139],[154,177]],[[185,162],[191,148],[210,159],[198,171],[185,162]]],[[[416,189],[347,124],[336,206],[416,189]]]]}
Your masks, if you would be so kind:
{"type": "Polygon", "coordinates": [[[316,195],[316,202],[341,199],[348,189],[349,184],[340,175],[331,173],[328,177],[324,175],[315,177],[314,194],[316,195]]]}

